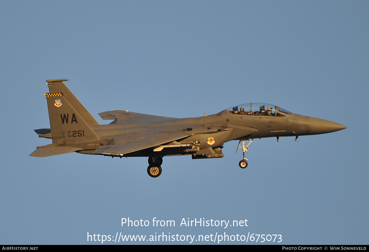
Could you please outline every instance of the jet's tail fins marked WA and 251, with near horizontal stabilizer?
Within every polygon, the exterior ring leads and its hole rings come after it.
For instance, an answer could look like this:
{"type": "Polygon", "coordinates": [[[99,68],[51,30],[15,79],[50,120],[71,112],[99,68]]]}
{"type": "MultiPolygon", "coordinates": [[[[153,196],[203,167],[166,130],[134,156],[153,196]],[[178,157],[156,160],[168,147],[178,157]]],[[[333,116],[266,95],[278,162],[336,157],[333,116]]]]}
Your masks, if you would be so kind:
{"type": "Polygon", "coordinates": [[[37,147],[30,156],[52,156],[82,150],[76,146],[83,142],[98,141],[100,138],[90,128],[99,123],[80,101],[65,86],[68,79],[46,80],[46,93],[50,120],[50,134],[47,129],[35,130],[40,137],[52,138],[51,145],[37,147]],[[46,134],[39,134],[40,132],[46,134]]]}

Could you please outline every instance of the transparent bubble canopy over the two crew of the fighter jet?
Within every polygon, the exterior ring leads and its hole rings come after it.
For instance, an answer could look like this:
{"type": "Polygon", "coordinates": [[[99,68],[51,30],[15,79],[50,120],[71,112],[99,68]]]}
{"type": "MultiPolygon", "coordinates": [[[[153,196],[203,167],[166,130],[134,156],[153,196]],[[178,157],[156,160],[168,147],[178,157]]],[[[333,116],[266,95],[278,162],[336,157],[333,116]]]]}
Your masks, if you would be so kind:
{"type": "Polygon", "coordinates": [[[283,108],[268,103],[246,103],[227,108],[226,111],[240,115],[288,116],[292,114],[283,108]]]}

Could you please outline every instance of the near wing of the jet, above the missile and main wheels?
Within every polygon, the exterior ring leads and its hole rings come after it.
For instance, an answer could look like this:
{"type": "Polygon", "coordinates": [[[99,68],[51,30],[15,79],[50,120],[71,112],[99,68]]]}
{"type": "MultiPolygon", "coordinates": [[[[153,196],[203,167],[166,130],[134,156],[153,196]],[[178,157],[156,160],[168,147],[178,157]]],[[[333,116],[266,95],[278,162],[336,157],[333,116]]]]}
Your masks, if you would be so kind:
{"type": "Polygon", "coordinates": [[[145,131],[134,134],[125,134],[114,138],[112,145],[98,147],[94,154],[122,156],[135,151],[163,145],[175,140],[189,137],[188,132],[160,132],[145,131]]]}

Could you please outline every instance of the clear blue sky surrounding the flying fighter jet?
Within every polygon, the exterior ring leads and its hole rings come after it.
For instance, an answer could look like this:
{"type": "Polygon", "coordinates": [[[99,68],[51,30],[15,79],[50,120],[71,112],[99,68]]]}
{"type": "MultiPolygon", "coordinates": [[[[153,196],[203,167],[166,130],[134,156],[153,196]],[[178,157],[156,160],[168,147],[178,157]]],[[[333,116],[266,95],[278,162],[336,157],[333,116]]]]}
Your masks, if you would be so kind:
{"type": "Polygon", "coordinates": [[[368,13],[368,1],[0,1],[0,244],[101,244],[87,232],[368,244],[368,13]],[[63,78],[100,124],[107,110],[183,118],[264,102],[348,128],[256,139],[246,169],[238,141],[221,159],[165,157],[158,178],[147,158],[30,157],[51,144],[33,131],[49,128],[45,80],[63,78]]]}

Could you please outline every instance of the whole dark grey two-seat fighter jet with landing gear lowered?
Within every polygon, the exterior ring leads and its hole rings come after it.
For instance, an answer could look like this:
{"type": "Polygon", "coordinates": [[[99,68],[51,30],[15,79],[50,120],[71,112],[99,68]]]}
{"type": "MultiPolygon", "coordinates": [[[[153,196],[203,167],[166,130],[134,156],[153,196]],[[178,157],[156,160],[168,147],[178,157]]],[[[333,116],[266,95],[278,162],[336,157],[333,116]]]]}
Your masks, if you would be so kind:
{"type": "Polygon", "coordinates": [[[279,141],[279,137],[293,136],[296,141],[299,136],[347,128],[266,103],[242,104],[214,115],[204,114],[195,118],[111,110],[99,115],[103,120],[113,121],[100,125],[65,86],[63,82],[67,80],[46,80],[50,128],[35,132],[39,137],[51,138],[52,144],[37,147],[30,156],[46,157],[70,152],[120,158],[142,156],[148,157],[148,175],[158,177],[164,156],[222,158],[223,144],[238,140],[238,149],[242,147],[243,152],[239,167],[246,168],[248,159],[245,152],[256,138],[276,137],[279,141]]]}

